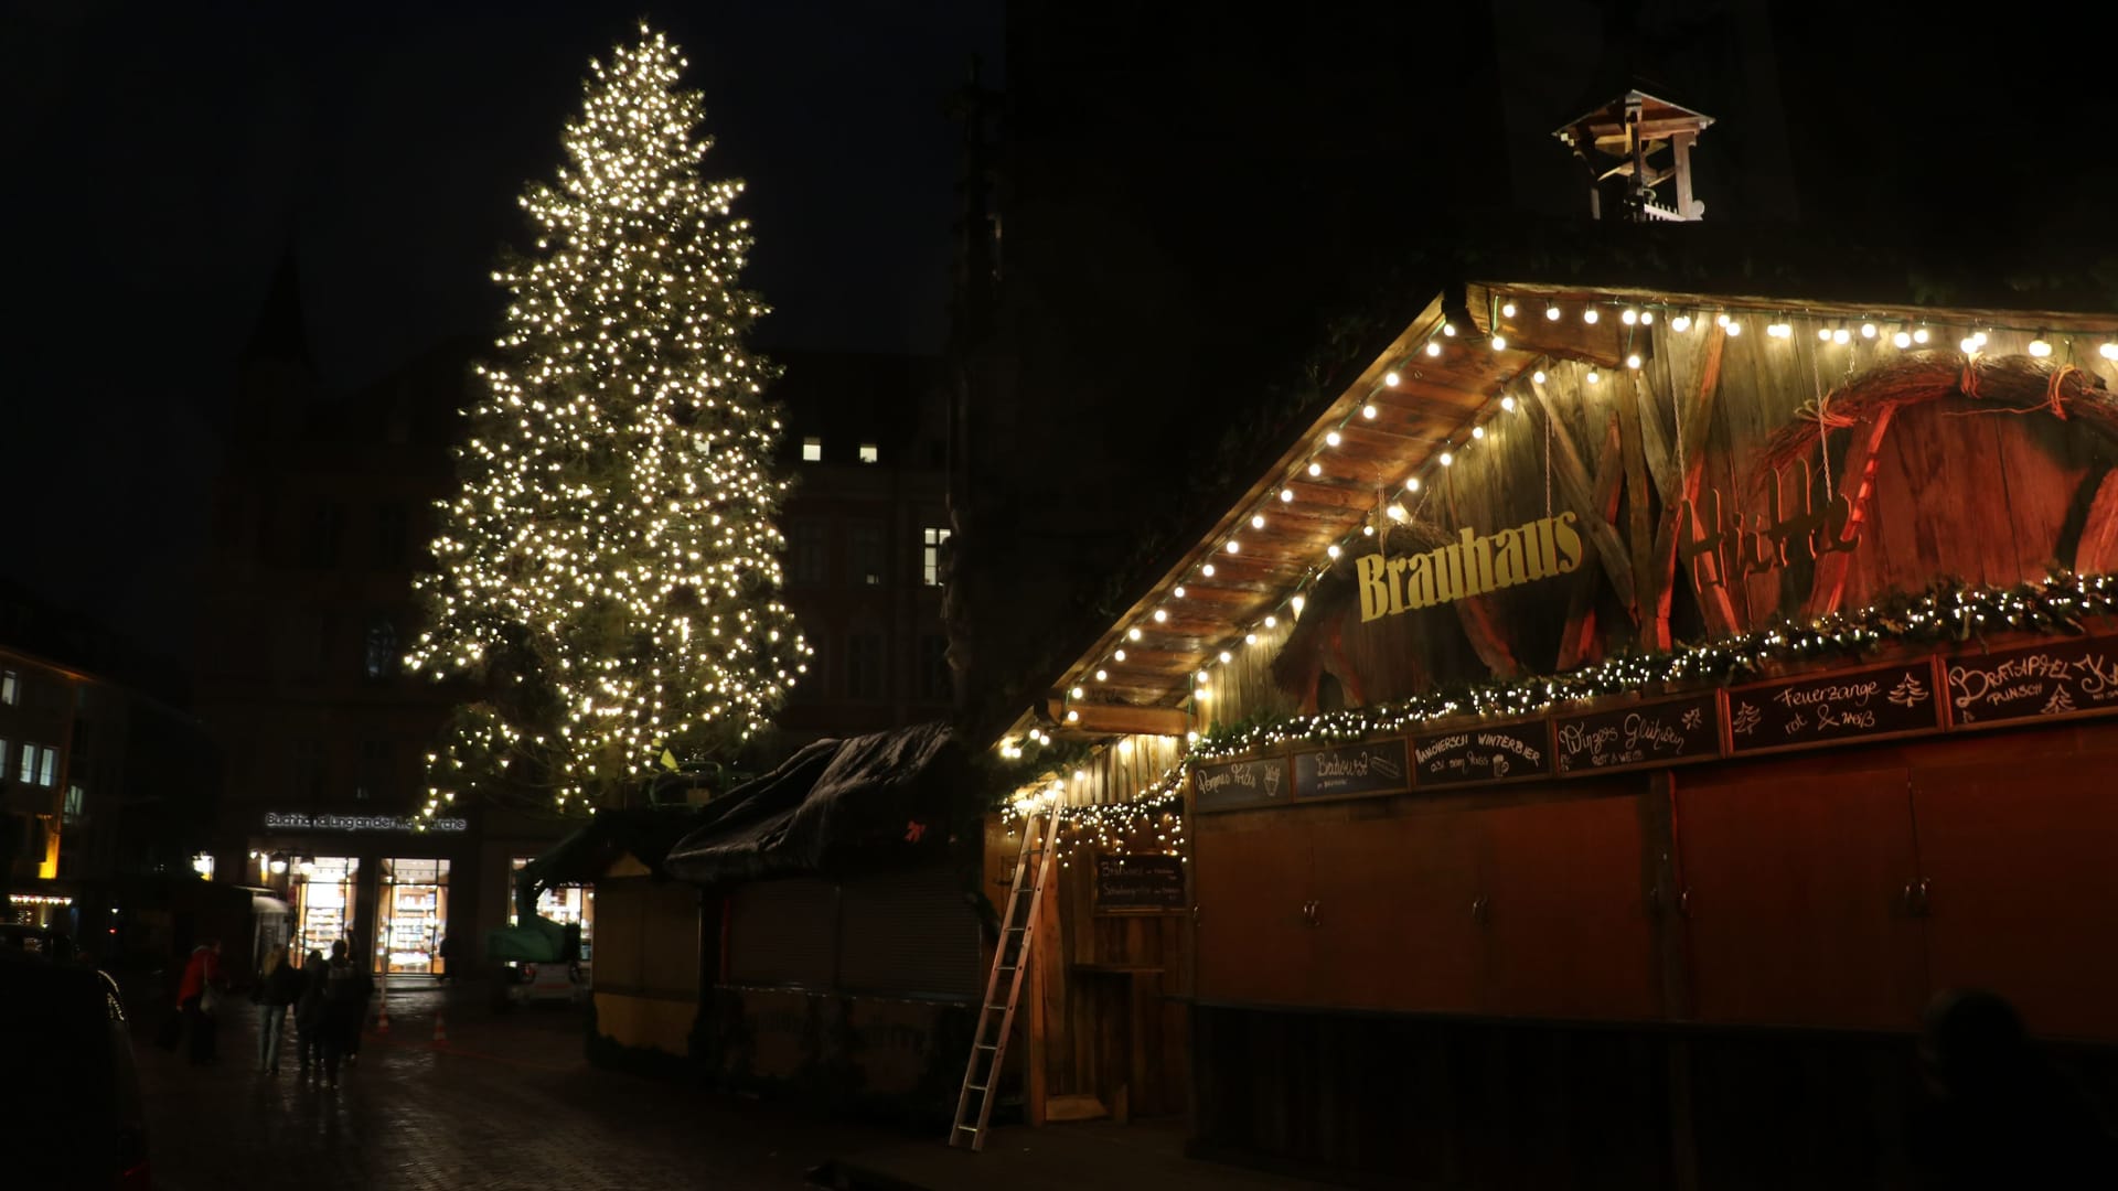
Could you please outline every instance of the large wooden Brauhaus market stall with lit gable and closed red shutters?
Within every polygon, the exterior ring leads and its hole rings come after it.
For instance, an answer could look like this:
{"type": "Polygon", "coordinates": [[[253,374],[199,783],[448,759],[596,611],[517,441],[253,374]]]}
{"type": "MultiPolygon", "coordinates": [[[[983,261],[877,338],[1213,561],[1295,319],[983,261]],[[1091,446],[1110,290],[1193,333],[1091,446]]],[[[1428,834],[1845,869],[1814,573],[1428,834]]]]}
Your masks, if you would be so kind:
{"type": "Polygon", "coordinates": [[[1000,742],[1074,831],[1031,1115],[1902,1185],[1970,985],[2118,1087],[2114,381],[2110,316],[1444,286],[1000,742]]]}

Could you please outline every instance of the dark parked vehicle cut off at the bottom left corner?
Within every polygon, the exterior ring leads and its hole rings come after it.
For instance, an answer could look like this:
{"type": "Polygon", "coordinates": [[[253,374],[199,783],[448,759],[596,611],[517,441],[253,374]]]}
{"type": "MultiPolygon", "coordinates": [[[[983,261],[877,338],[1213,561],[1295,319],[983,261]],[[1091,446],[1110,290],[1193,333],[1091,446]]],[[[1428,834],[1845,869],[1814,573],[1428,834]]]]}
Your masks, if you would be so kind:
{"type": "Polygon", "coordinates": [[[8,1185],[150,1189],[140,1074],[116,981],[89,964],[6,947],[0,1007],[8,1185]]]}

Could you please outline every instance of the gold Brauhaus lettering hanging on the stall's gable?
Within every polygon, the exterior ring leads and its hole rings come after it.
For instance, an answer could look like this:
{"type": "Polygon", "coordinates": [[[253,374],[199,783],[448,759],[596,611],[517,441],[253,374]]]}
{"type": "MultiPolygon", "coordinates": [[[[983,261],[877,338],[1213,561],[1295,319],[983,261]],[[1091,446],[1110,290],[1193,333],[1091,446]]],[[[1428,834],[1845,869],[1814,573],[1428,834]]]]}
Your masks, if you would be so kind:
{"type": "Polygon", "coordinates": [[[1574,513],[1540,517],[1497,534],[1461,532],[1461,540],[1425,553],[1356,559],[1360,619],[1396,617],[1516,583],[1572,574],[1582,564],[1574,513]]]}

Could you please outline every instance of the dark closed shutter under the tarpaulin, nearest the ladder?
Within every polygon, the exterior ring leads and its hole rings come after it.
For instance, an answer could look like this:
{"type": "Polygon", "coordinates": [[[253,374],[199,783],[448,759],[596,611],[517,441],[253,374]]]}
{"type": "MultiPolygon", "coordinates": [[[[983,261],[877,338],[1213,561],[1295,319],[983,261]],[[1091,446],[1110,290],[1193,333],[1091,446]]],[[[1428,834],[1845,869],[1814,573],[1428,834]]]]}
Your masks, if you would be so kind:
{"type": "Polygon", "coordinates": [[[913,869],[847,882],[839,894],[839,988],[972,1000],[979,918],[955,871],[913,869]]]}

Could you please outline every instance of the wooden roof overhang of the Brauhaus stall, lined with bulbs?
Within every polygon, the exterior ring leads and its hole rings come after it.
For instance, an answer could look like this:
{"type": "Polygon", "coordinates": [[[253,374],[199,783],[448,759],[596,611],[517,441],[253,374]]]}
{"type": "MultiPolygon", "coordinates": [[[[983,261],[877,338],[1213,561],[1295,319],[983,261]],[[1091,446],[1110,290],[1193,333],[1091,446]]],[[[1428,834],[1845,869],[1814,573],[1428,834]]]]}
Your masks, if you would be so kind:
{"type": "MultiPolygon", "coordinates": [[[[1773,316],[1857,324],[1898,314],[1936,328],[1999,324],[2097,335],[2110,335],[2118,324],[2110,314],[1925,307],[1902,299],[1864,305],[1548,282],[1472,282],[1442,290],[1311,424],[1292,434],[1279,458],[1235,496],[1205,536],[1053,676],[1048,704],[1019,716],[1012,733],[1038,723],[1076,737],[1182,733],[1182,704],[1192,695],[1192,674],[1220,651],[1241,648],[1245,634],[1328,566],[1328,549],[1379,517],[1408,477],[1425,473],[1442,451],[1461,449],[1508,386],[1542,360],[1622,367],[1629,328],[1618,318],[1586,324],[1580,312],[1627,303],[1684,309],[1701,322],[1735,312],[1752,335],[1764,335],[1773,316]],[[1510,299],[1514,316],[1504,314],[1510,299]],[[1546,305],[1559,305],[1567,316],[1548,320],[1546,305]],[[1444,335],[1444,324],[1455,335],[1444,335]],[[1504,348],[1493,345],[1495,331],[1504,348]],[[1430,356],[1428,343],[1444,348],[1430,356]],[[1262,517],[1262,528],[1254,517],[1262,517]],[[1237,545],[1233,553],[1228,543],[1237,545]],[[1205,574],[1209,564],[1211,574],[1205,574]],[[1178,589],[1184,593],[1178,596],[1178,589]],[[1163,617],[1156,619],[1156,612],[1163,617]],[[1125,651],[1123,661],[1118,651],[1125,651]],[[1106,678],[1095,680],[1095,672],[1106,678]],[[1072,697],[1072,689],[1082,695],[1072,697]],[[1078,718],[1070,723],[1065,712],[1078,712],[1078,718]]],[[[1955,341],[1942,335],[1934,345],[1953,348],[1955,341]]]]}

